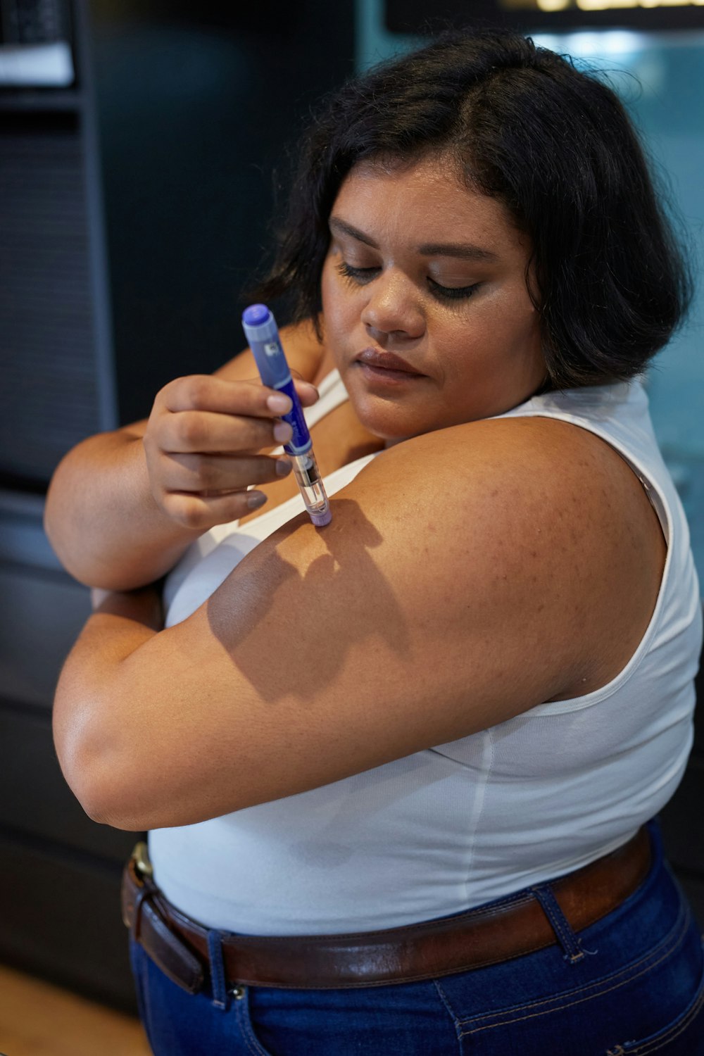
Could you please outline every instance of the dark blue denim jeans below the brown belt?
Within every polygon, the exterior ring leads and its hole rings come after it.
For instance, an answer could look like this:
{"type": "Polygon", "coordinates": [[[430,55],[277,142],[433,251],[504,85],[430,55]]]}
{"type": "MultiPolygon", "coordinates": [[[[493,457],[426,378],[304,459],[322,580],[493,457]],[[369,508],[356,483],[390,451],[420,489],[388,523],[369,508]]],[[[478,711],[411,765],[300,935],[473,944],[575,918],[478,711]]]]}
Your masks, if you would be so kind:
{"type": "MultiPolygon", "coordinates": [[[[132,943],[156,1056],[704,1056],[701,939],[663,862],[617,909],[499,964],[357,989],[187,994],[132,943]]],[[[500,900],[501,902],[507,900],[500,900]]],[[[497,903],[497,904],[500,904],[497,903]]],[[[211,932],[211,935],[214,935],[211,932]]]]}

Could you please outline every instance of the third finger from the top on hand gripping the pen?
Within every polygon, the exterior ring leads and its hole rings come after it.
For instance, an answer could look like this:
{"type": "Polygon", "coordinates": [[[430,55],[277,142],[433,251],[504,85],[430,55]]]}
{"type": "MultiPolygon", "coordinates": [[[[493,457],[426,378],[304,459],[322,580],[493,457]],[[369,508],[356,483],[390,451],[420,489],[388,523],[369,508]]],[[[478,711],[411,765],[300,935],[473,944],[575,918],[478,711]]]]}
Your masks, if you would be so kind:
{"type": "Polygon", "coordinates": [[[290,471],[291,464],[285,457],[170,453],[161,464],[160,483],[165,491],[214,494],[270,484],[288,476],[290,471]]]}

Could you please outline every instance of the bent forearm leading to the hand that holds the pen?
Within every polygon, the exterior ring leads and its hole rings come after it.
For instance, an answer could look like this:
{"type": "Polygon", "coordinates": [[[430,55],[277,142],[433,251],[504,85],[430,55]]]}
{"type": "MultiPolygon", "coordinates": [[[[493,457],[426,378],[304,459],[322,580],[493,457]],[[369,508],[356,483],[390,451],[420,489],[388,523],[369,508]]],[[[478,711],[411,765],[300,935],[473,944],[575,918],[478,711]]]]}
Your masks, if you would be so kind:
{"type": "Polygon", "coordinates": [[[203,530],[159,509],[141,437],[127,430],[93,436],[64,457],[49,489],[44,527],[72,576],[111,590],[159,579],[203,530]]]}

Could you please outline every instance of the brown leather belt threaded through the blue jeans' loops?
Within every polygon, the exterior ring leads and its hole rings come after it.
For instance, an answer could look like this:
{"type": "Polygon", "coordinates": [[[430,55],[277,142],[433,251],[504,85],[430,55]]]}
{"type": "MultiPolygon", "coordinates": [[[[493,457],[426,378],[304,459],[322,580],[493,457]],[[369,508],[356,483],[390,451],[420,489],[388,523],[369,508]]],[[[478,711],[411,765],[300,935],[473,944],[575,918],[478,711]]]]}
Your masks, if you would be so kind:
{"type": "MultiPolygon", "coordinates": [[[[135,851],[137,849],[135,848],[135,851]]],[[[645,879],[650,841],[642,828],[623,847],[549,887],[573,931],[615,909],[645,879]]],[[[208,931],[172,906],[153,883],[148,861],[125,869],[122,919],[161,970],[197,993],[208,978],[208,931]]],[[[229,988],[242,985],[319,989],[379,986],[483,967],[557,942],[540,903],[521,891],[465,913],[357,935],[224,935],[229,988]]]]}

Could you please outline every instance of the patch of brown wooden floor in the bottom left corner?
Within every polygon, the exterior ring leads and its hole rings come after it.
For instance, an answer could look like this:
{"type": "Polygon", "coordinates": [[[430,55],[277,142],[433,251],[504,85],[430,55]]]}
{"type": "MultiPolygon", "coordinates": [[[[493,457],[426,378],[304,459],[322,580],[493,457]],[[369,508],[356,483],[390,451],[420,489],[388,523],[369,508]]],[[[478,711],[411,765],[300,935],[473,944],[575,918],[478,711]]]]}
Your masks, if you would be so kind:
{"type": "Polygon", "coordinates": [[[0,966],[2,1056],[151,1056],[137,1020],[0,966]]]}

